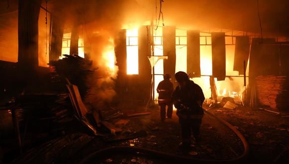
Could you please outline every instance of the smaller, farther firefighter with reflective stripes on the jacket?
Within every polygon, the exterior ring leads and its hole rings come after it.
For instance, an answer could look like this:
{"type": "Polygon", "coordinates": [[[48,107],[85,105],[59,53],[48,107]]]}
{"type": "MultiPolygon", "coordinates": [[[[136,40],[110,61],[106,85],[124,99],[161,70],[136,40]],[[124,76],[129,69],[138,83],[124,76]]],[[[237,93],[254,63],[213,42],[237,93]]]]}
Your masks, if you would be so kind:
{"type": "Polygon", "coordinates": [[[158,105],[160,106],[160,120],[163,122],[165,119],[165,113],[167,118],[172,116],[172,100],[171,93],[173,91],[173,84],[170,82],[170,75],[165,74],[163,76],[163,81],[159,82],[156,88],[158,93],[158,105]],[[167,112],[165,108],[167,106],[167,112]]]}

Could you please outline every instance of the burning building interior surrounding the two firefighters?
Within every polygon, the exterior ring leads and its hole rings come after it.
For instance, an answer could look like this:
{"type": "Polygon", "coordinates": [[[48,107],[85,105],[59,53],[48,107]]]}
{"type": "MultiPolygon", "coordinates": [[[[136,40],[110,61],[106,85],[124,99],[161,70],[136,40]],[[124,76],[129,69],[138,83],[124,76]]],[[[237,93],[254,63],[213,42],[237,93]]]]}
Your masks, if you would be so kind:
{"type": "Polygon", "coordinates": [[[288,8],[287,0],[0,0],[0,163],[287,163],[288,8]],[[156,119],[156,88],[164,74],[178,86],[179,71],[218,116],[205,116],[201,129],[217,130],[204,133],[238,131],[225,132],[228,149],[208,137],[189,155],[159,146],[178,141],[179,127],[176,117],[156,119]],[[220,118],[233,126],[210,123],[220,118]],[[93,158],[94,148],[108,158],[93,158]],[[118,151],[130,157],[111,157],[118,151]]]}

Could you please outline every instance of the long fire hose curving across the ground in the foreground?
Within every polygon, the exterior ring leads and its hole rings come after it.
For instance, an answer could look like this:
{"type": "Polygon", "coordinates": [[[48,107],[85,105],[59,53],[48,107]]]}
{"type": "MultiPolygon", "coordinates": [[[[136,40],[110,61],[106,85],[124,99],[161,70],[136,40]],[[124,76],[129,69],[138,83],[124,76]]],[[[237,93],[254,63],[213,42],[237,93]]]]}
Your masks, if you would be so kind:
{"type": "Polygon", "coordinates": [[[182,157],[177,155],[172,155],[164,152],[159,152],[151,149],[146,148],[140,148],[140,147],[127,147],[127,146],[121,146],[121,147],[110,147],[105,148],[99,151],[96,151],[92,154],[90,154],[88,157],[83,159],[80,164],[89,164],[92,161],[97,160],[98,158],[102,158],[109,153],[126,153],[126,154],[136,154],[137,152],[149,155],[156,159],[165,159],[166,161],[175,162],[175,163],[197,163],[197,164],[236,164],[236,163],[244,163],[246,161],[248,155],[249,155],[249,144],[245,137],[230,123],[227,121],[217,117],[216,115],[212,114],[209,111],[205,110],[205,113],[209,114],[210,116],[216,118],[218,121],[220,121],[222,124],[229,127],[242,141],[244,152],[241,156],[236,157],[234,159],[229,160],[205,160],[205,159],[197,159],[197,158],[189,158],[189,157],[182,157]]]}

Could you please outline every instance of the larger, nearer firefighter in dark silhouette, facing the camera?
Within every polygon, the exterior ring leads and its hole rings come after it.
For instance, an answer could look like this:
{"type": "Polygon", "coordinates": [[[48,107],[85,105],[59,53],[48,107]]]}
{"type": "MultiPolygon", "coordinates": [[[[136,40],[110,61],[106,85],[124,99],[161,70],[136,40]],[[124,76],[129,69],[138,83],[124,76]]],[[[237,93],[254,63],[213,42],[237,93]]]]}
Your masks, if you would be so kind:
{"type": "Polygon", "coordinates": [[[185,72],[177,72],[175,79],[178,86],[172,93],[172,100],[181,126],[180,146],[188,148],[191,145],[191,132],[196,143],[200,141],[200,125],[204,115],[202,104],[205,97],[201,87],[189,80],[185,72]]]}

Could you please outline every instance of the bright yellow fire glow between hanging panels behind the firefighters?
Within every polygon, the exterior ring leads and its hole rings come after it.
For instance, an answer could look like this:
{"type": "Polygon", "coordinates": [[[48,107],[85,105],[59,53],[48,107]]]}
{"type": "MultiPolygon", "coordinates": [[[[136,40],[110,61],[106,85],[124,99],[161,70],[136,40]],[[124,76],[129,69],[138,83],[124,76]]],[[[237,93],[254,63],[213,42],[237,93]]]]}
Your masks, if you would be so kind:
{"type": "MultiPolygon", "coordinates": [[[[158,37],[162,36],[162,28],[154,33],[154,41],[157,42],[158,37]]],[[[200,33],[200,36],[210,36],[209,33],[200,33]]],[[[138,30],[127,30],[127,74],[138,74],[138,30]]],[[[207,43],[210,44],[210,37],[207,43]]],[[[227,39],[228,40],[228,39],[227,39]]],[[[212,48],[211,45],[204,45],[205,41],[200,39],[200,67],[201,77],[193,78],[195,83],[199,84],[206,98],[211,97],[209,76],[212,75],[212,48]]],[[[162,45],[154,46],[154,55],[162,56],[162,45]]],[[[226,45],[226,75],[238,76],[237,71],[233,71],[235,45],[226,45]]],[[[176,70],[186,72],[186,30],[176,29],[176,70]],[[179,37],[179,40],[178,40],[179,37]],[[179,45],[181,44],[181,45],[179,45]]],[[[248,68],[247,68],[248,69],[248,68]]],[[[156,88],[158,82],[162,80],[163,61],[159,61],[154,66],[156,88]]],[[[247,70],[248,73],[248,70],[247,70]]],[[[173,76],[173,75],[172,75],[173,76]]],[[[243,89],[243,78],[226,78],[225,81],[217,81],[215,78],[217,93],[219,96],[240,95],[243,89]],[[236,94],[235,94],[236,93],[236,94]]],[[[155,91],[156,93],[156,91],[155,91]]],[[[154,97],[157,100],[157,94],[154,97]]]]}

